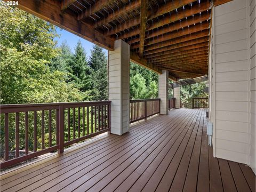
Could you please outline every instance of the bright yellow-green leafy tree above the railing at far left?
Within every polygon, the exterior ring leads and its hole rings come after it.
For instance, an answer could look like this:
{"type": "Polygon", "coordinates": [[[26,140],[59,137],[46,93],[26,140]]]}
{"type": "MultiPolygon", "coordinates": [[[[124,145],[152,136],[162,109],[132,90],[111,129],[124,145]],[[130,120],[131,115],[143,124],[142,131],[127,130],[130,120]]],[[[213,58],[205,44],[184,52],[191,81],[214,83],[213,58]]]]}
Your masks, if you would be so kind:
{"type": "Polygon", "coordinates": [[[1,6],[0,17],[1,103],[80,100],[78,90],[66,84],[65,73],[51,73],[55,27],[13,7],[1,6]]]}

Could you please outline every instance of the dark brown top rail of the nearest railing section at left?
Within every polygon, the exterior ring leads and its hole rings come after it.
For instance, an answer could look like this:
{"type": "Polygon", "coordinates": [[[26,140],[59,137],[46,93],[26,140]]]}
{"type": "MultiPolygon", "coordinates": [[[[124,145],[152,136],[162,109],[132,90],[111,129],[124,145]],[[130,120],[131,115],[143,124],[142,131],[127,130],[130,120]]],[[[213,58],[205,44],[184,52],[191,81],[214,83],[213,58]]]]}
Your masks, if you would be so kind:
{"type": "Polygon", "coordinates": [[[71,107],[87,107],[94,105],[108,105],[111,101],[86,101],[86,102],[56,102],[56,103],[33,103],[33,104],[11,104],[0,105],[0,113],[17,113],[22,111],[34,111],[34,110],[52,110],[59,109],[59,106],[64,108],[71,107]]]}

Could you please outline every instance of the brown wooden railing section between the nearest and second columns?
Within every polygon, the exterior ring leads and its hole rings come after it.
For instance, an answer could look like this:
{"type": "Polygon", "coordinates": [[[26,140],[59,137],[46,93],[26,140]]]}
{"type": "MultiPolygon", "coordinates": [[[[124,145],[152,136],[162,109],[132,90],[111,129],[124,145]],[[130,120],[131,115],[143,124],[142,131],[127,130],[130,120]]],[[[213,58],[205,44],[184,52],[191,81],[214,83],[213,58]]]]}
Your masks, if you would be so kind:
{"type": "Polygon", "coordinates": [[[130,123],[160,113],[160,99],[130,100],[130,123]]]}

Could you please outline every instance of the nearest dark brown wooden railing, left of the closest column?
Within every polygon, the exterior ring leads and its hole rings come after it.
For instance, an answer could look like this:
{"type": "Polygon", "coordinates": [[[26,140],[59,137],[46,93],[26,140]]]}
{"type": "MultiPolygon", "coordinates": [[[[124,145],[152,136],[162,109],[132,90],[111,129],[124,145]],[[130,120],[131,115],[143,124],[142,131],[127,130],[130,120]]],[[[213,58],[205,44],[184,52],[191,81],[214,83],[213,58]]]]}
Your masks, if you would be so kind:
{"type": "Polygon", "coordinates": [[[2,105],[1,169],[110,131],[110,102],[2,105]]]}

